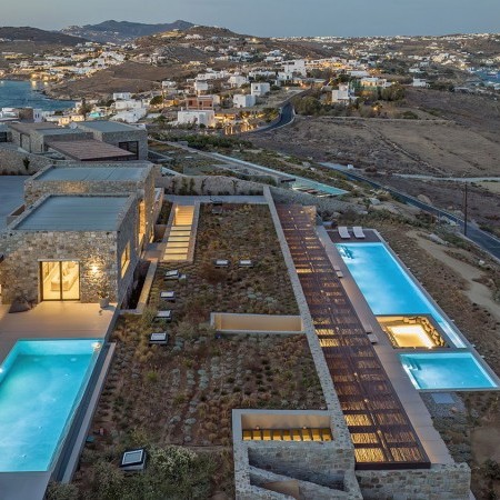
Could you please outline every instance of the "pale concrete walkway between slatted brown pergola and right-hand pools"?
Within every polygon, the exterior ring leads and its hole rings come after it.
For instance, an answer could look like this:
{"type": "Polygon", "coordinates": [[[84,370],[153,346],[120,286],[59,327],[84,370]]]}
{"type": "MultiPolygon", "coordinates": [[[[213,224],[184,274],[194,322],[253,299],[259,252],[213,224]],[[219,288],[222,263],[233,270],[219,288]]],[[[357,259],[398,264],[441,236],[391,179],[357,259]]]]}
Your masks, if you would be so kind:
{"type": "Polygon", "coordinates": [[[327,250],[333,266],[339,266],[343,273],[342,287],[349,296],[354,310],[364,327],[371,327],[379,341],[374,347],[378,358],[383,364],[392,387],[400,399],[404,411],[413,426],[431,463],[454,463],[444,441],[432,424],[432,418],[423,403],[418,390],[413,387],[399,360],[397,350],[391,346],[373,316],[367,300],[359,290],[349,269],[337,251],[326,229],[317,227],[318,236],[327,250]]]}

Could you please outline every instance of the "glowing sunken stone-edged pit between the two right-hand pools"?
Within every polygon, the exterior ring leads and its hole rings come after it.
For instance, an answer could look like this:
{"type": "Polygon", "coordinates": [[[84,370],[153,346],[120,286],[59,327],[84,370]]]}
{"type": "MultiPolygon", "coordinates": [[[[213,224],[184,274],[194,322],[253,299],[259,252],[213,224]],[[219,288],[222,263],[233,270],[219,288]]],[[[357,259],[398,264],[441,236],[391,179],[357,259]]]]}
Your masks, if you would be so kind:
{"type": "Polygon", "coordinates": [[[428,316],[378,317],[394,348],[433,349],[447,347],[438,328],[428,316]]]}

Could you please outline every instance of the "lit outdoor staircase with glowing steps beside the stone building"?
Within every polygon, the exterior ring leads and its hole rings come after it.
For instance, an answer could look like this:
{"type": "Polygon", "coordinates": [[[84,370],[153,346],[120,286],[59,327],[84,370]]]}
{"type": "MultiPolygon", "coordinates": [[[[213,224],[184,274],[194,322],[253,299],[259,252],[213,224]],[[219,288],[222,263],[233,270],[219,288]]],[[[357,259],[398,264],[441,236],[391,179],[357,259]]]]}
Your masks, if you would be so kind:
{"type": "Polygon", "coordinates": [[[179,262],[188,260],[189,247],[193,236],[194,206],[176,204],[172,207],[173,220],[167,229],[167,246],[163,260],[179,262]]]}

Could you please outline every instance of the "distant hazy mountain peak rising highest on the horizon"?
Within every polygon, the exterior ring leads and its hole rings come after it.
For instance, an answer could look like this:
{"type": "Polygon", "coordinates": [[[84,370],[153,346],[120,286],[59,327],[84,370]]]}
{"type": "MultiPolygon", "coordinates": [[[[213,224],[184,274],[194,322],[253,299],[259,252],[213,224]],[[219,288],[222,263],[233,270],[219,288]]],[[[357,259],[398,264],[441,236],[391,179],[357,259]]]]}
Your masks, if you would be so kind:
{"type": "Polygon", "coordinates": [[[183,31],[192,26],[191,22],[182,20],[160,24],[109,20],[99,24],[70,26],[62,29],[61,32],[83,37],[97,42],[126,43],[136,38],[148,37],[163,31],[183,31]]]}

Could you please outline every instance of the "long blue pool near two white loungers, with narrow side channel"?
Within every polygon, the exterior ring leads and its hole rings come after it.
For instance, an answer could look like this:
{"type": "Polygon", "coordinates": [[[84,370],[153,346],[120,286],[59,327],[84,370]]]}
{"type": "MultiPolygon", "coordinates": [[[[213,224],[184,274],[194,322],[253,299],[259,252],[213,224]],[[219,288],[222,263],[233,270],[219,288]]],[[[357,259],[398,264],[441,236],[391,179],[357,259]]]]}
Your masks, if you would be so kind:
{"type": "Polygon", "coordinates": [[[383,243],[337,243],[373,314],[431,314],[457,348],[466,344],[383,243]]]}

